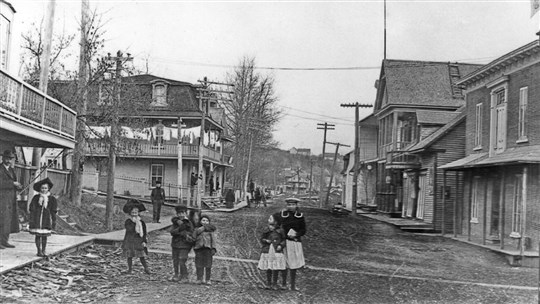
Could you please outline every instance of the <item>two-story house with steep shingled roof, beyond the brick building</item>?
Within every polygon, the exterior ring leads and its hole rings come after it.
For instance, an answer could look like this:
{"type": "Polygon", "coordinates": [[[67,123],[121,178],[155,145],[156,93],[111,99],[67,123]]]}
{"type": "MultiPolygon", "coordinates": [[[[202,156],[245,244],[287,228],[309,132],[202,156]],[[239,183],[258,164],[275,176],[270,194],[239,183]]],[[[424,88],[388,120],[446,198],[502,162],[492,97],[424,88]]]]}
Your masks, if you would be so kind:
{"type": "Polygon", "coordinates": [[[439,163],[447,163],[460,157],[453,154],[459,147],[449,142],[436,149],[409,150],[456,119],[456,110],[465,104],[457,81],[479,67],[449,62],[383,61],[374,106],[378,120],[375,197],[379,212],[437,224],[440,215],[436,214],[435,194],[440,173],[433,170],[433,163],[437,163],[435,154],[441,158],[439,163]]]}

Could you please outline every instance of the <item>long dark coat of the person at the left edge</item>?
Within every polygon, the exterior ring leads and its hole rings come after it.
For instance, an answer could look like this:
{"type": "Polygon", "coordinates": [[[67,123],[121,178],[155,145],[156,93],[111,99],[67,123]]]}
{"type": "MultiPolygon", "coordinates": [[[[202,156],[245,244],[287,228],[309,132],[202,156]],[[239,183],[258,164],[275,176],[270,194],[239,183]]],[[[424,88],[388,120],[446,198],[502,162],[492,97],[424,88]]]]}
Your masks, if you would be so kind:
{"type": "Polygon", "coordinates": [[[19,232],[16,181],[15,170],[0,164],[0,235],[19,232]]]}

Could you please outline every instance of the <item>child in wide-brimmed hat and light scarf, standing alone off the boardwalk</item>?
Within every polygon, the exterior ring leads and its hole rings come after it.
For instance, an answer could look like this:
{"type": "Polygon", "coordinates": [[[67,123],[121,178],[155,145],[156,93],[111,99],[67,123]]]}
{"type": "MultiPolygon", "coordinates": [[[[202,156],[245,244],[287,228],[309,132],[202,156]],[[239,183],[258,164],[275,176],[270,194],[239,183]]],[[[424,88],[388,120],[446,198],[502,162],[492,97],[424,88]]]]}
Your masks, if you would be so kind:
{"type": "Polygon", "coordinates": [[[126,274],[132,272],[134,257],[140,259],[141,264],[144,267],[144,272],[150,274],[148,264],[145,260],[145,256],[148,254],[148,249],[146,247],[148,244],[146,223],[139,217],[139,212],[145,210],[146,208],[144,205],[135,199],[128,200],[123,208],[123,211],[130,216],[124,224],[126,234],[124,236],[124,242],[122,243],[124,256],[127,258],[128,263],[128,270],[125,272],[126,274]]]}

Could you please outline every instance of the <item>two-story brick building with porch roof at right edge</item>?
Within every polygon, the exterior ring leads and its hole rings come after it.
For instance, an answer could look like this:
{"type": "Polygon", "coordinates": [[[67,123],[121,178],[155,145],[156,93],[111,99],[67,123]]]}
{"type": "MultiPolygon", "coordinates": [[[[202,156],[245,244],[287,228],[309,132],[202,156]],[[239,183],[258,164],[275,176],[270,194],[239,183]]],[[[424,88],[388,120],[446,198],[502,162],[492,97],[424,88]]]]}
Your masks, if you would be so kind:
{"type": "MultiPolygon", "coordinates": [[[[540,46],[495,59],[458,82],[466,94],[466,156],[441,166],[463,174],[454,231],[501,249],[538,250],[540,46]]],[[[536,254],[537,256],[537,254],[536,254]]]]}

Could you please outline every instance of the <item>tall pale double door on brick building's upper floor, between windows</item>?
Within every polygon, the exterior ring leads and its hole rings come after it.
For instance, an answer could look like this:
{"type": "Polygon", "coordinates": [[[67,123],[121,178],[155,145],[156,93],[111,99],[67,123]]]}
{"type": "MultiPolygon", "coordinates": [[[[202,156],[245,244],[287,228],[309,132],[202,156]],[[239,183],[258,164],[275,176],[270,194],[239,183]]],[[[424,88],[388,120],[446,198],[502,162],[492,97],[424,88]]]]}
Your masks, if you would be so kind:
{"type": "Polygon", "coordinates": [[[491,91],[491,132],[490,155],[506,149],[506,108],[507,85],[501,85],[491,91]]]}

